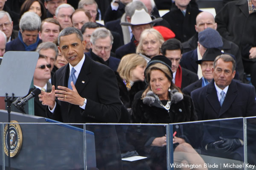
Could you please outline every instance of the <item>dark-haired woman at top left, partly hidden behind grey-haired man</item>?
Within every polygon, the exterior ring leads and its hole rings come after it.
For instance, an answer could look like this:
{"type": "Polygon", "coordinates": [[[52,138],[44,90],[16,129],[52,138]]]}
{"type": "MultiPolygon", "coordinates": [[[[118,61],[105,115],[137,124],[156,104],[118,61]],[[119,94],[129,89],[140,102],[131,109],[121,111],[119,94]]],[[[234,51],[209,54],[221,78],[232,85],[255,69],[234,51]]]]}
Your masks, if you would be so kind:
{"type": "Polygon", "coordinates": [[[31,11],[38,14],[41,20],[46,18],[46,9],[41,0],[26,0],[20,7],[20,17],[26,12],[31,11]]]}

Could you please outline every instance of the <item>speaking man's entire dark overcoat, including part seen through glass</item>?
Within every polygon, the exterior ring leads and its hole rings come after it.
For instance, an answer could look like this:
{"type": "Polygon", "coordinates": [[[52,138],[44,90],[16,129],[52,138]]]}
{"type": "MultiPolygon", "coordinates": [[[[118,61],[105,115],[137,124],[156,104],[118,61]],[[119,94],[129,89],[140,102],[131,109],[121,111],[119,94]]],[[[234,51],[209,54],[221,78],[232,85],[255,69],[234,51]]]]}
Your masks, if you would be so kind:
{"type": "MultiPolygon", "coordinates": [[[[59,68],[53,85],[67,87],[69,65],[59,68]]],[[[68,102],[57,101],[54,113],[47,109],[47,116],[65,123],[117,123],[121,116],[121,101],[114,72],[106,65],[85,56],[84,64],[76,80],[76,90],[87,99],[85,109],[68,102]]],[[[96,162],[99,169],[122,169],[121,153],[113,125],[88,125],[95,135],[96,162]],[[108,149],[108,153],[105,150],[108,149]]]]}

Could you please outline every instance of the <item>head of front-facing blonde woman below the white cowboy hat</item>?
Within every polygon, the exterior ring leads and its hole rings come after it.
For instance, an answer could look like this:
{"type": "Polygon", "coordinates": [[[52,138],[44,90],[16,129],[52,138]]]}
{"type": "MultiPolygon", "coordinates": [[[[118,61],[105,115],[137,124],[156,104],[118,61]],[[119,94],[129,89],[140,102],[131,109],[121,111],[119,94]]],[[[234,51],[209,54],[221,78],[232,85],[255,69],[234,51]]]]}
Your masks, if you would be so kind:
{"type": "Polygon", "coordinates": [[[145,29],[140,35],[140,42],[136,53],[144,57],[147,62],[151,58],[160,54],[160,48],[163,44],[163,36],[154,28],[145,29]]]}

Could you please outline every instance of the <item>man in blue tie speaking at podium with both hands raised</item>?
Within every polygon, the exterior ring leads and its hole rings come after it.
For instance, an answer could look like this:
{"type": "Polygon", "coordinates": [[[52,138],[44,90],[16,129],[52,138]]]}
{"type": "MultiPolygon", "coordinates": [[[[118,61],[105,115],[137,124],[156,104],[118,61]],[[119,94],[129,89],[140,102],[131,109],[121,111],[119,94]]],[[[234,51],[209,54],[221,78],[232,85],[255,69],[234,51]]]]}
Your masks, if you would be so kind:
{"type": "MultiPolygon", "coordinates": [[[[49,106],[47,117],[64,123],[119,122],[122,103],[113,71],[84,55],[86,41],[77,28],[64,28],[58,44],[69,64],[55,72],[51,93],[39,95],[42,104],[49,106]]],[[[107,131],[96,126],[86,129],[95,134],[97,167],[122,169],[119,144],[113,148],[117,142],[114,126],[107,126],[107,131]]]]}

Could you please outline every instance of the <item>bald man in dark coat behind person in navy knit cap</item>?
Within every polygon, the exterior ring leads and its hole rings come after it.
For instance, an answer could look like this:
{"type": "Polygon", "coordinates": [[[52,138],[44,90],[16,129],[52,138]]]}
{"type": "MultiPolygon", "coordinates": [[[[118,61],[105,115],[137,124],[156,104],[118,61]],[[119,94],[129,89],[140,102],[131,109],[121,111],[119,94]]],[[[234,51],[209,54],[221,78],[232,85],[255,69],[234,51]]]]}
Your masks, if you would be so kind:
{"type": "MultiPolygon", "coordinates": [[[[215,23],[214,16],[206,11],[203,11],[198,14],[196,17],[196,25],[195,25],[195,31],[196,34],[191,37],[188,41],[183,42],[183,53],[195,50],[198,47],[198,33],[201,31],[204,31],[206,28],[212,28],[214,30],[217,29],[217,23],[215,23]]],[[[241,52],[239,50],[239,47],[226,39],[222,37],[223,46],[221,48],[221,51],[227,54],[232,54],[236,57],[236,63],[237,63],[237,70],[239,72],[239,79],[243,81],[244,77],[244,66],[242,62],[241,52]]]]}

